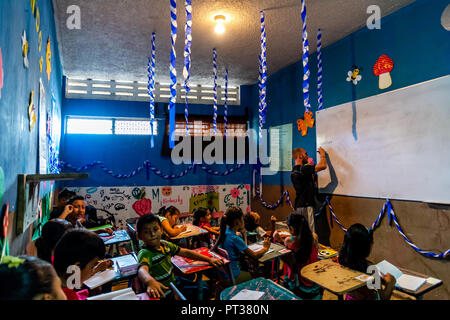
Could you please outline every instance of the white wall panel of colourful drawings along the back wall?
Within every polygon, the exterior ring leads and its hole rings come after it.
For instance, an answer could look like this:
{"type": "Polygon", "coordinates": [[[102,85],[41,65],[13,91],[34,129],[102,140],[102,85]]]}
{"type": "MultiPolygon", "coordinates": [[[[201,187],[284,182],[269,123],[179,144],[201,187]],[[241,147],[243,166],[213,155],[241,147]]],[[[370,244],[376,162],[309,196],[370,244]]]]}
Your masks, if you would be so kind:
{"type": "Polygon", "coordinates": [[[141,187],[84,187],[69,188],[83,196],[86,204],[112,213],[119,227],[125,220],[147,213],[157,213],[162,206],[175,206],[181,213],[207,207],[211,211],[225,211],[237,206],[250,211],[250,185],[141,186],[141,187]]]}

